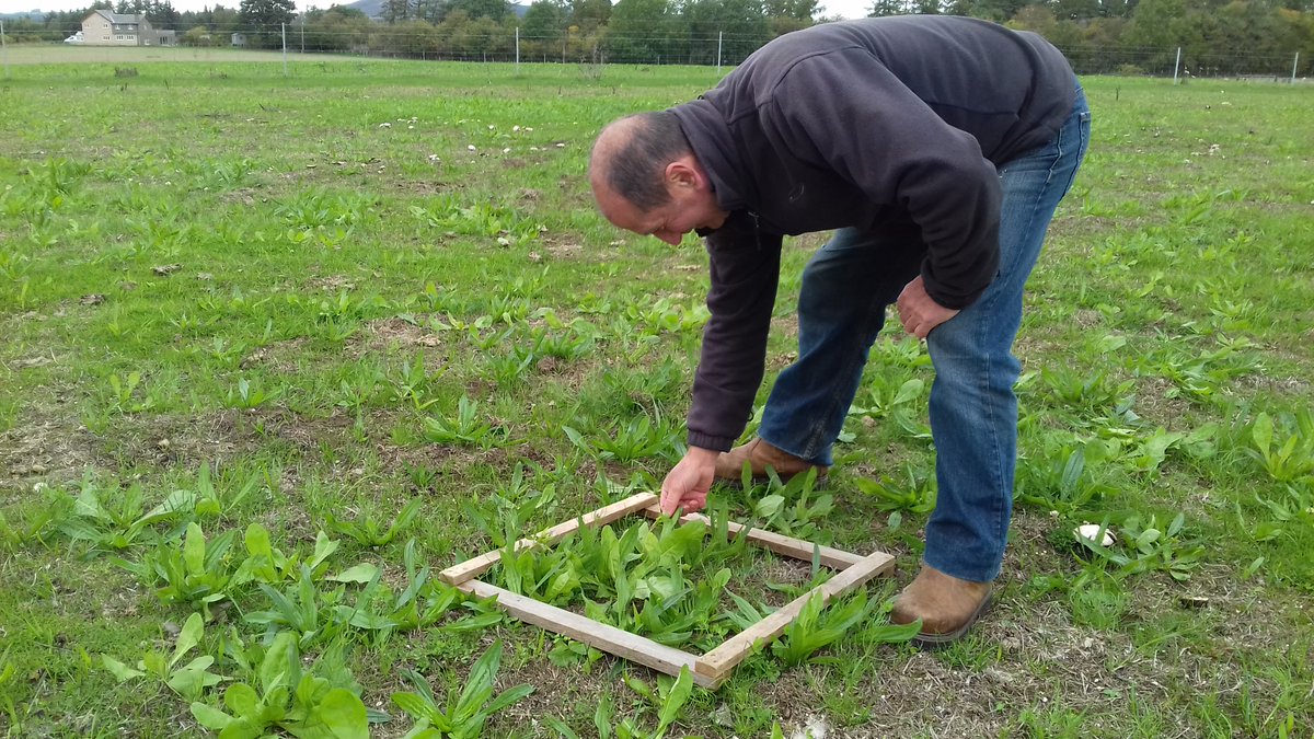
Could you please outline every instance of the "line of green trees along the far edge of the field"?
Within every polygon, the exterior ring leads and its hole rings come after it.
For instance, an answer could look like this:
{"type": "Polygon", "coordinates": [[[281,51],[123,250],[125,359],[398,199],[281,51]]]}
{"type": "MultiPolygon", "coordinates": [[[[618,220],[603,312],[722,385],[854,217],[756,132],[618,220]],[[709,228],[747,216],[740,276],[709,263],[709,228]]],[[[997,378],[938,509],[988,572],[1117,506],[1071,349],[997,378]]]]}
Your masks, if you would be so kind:
{"type": "MultiPolygon", "coordinates": [[[[242,0],[180,13],[168,0],[97,1],[43,21],[7,24],[16,37],[58,39],[96,8],[145,13],[181,43],[251,46],[415,58],[735,64],[771,38],[827,22],[819,0],[382,0],[378,18],[332,5],[298,14],[293,0],[242,0]]],[[[871,16],[949,13],[1034,30],[1077,71],[1171,71],[1180,47],[1192,74],[1314,70],[1314,0],[872,0],[871,16]],[[1280,68],[1285,59],[1285,70],[1280,68]],[[1271,68],[1271,67],[1279,68],[1271,68]]]]}

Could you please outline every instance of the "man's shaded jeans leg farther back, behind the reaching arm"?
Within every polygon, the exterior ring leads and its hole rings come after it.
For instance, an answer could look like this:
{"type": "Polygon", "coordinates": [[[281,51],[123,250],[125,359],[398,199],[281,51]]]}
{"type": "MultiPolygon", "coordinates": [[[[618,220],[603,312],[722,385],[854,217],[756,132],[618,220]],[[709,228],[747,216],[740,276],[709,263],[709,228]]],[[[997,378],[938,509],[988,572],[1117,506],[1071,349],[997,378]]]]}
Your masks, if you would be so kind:
{"type": "Polygon", "coordinates": [[[812,255],[799,292],[799,356],[771,388],[759,438],[808,463],[832,463],[886,306],[924,255],[916,238],[891,242],[854,229],[836,231],[812,255]]]}

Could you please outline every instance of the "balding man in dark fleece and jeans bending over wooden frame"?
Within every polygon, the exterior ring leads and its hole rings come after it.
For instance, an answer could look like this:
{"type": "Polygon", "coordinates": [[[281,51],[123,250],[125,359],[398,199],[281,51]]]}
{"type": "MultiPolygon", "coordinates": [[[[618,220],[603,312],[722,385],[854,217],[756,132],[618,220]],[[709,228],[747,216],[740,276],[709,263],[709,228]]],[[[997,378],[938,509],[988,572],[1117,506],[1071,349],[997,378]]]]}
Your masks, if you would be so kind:
{"type": "Polygon", "coordinates": [[[593,150],[603,216],[677,245],[707,238],[711,320],[689,452],[662,509],[716,479],[824,475],[887,305],[926,339],[938,500],[922,568],[891,614],[918,642],[989,605],[1012,514],[1022,287],[1085,154],[1089,109],[1063,55],[984,21],[909,16],[774,39],[702,99],[622,118],[593,150]],[[803,272],[799,354],[758,438],[782,235],[837,229],[803,272]]]}

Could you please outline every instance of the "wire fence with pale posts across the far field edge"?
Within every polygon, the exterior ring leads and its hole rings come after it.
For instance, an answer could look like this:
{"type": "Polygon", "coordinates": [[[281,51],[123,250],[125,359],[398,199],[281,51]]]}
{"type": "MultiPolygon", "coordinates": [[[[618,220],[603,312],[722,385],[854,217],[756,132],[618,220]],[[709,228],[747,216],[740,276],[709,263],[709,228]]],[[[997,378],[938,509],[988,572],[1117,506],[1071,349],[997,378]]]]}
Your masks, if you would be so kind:
{"type": "MultiPolygon", "coordinates": [[[[733,67],[769,41],[759,33],[724,32],[624,34],[602,29],[595,33],[562,30],[527,34],[514,26],[498,26],[489,33],[442,33],[442,26],[417,30],[376,24],[368,30],[334,32],[288,25],[239,33],[179,36],[179,45],[193,50],[238,46],[384,59],[733,67]]],[[[68,46],[51,42],[49,34],[39,37],[37,32],[7,32],[0,41],[14,50],[28,50],[24,59],[37,60],[41,54],[32,53],[34,49],[68,46]]],[[[92,47],[85,42],[76,46],[92,47]]],[[[1184,43],[1181,47],[1060,43],[1059,49],[1080,75],[1254,78],[1296,82],[1314,74],[1314,53],[1296,49],[1276,54],[1200,50],[1198,43],[1184,43]]]]}

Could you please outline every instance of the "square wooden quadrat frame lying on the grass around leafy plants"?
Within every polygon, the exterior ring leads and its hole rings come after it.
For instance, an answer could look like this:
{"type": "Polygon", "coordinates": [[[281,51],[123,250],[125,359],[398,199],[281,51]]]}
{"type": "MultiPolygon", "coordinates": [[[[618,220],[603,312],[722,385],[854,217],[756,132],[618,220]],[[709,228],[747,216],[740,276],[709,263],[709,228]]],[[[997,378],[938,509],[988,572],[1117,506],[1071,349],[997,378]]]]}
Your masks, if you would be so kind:
{"type": "MultiPolygon", "coordinates": [[[[532,538],[518,540],[514,551],[555,544],[569,534],[578,531],[581,526],[604,526],[636,513],[643,513],[649,518],[661,515],[657,496],[653,493],[639,493],[572,521],[557,523],[532,538]]],[[[707,517],[696,513],[685,514],[679,521],[681,523],[690,521],[710,523],[707,517]]],[[[464,593],[480,598],[497,597],[497,602],[502,610],[520,621],[583,642],[611,655],[656,669],[657,672],[678,676],[681,668],[687,667],[695,684],[716,689],[729,677],[735,667],[753,652],[754,644],[771,642],[783,634],[784,629],[799,617],[803,606],[808,604],[808,600],[813,594],[820,594],[823,602],[829,602],[832,598],[862,586],[872,577],[888,575],[895,567],[895,558],[883,551],[859,556],[842,550],[813,544],[803,539],[783,536],[761,529],[749,529],[733,521],[728,522],[728,535],[738,535],[741,531],[744,533],[742,535],[748,536],[749,543],[787,558],[811,563],[816,552],[820,563],[824,567],[837,571],[837,575],[790,601],[752,627],[731,636],[704,655],[694,655],[674,647],[658,644],[645,636],[631,634],[623,629],[608,626],[478,580],[480,575],[487,572],[502,559],[501,550],[494,550],[448,567],[439,573],[439,579],[448,585],[455,585],[464,593]]]]}

